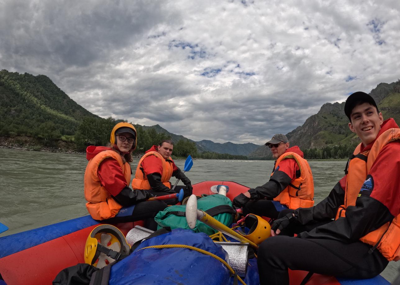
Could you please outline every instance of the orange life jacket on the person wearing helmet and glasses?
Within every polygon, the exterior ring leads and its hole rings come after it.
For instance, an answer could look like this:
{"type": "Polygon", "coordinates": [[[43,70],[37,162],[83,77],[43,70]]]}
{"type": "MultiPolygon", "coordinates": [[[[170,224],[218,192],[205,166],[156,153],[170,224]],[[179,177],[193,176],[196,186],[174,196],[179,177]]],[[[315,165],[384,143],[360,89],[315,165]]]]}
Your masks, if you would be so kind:
{"type": "Polygon", "coordinates": [[[88,201],[86,203],[86,208],[90,216],[95,220],[113,218],[122,208],[122,206],[112,198],[107,189],[101,185],[100,178],[97,175],[100,163],[106,158],[114,158],[117,160],[125,176],[126,184],[129,185],[130,182],[130,165],[129,163],[123,163],[121,156],[115,151],[104,150],[89,160],[85,170],[84,189],[85,199],[88,201]]]}

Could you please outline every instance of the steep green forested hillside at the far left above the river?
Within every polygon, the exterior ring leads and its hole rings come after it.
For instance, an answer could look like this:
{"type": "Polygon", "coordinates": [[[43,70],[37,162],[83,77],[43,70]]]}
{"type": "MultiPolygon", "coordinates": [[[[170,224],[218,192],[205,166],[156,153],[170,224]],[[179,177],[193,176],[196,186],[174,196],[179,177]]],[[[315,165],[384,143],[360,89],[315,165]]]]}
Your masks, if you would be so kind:
{"type": "Polygon", "coordinates": [[[84,117],[99,118],[47,76],[0,71],[0,135],[74,135],[84,117]]]}

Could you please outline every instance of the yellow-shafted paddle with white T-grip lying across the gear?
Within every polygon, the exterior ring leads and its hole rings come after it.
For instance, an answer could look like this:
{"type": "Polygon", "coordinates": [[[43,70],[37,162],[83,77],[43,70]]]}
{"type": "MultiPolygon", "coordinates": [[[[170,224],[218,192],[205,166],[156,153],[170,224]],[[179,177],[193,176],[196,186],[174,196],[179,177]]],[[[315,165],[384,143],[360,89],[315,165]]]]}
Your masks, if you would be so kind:
{"type": "Polygon", "coordinates": [[[206,224],[207,226],[210,226],[211,228],[218,230],[227,236],[230,236],[231,238],[234,238],[238,241],[241,242],[246,242],[249,243],[250,246],[254,247],[255,249],[258,249],[258,245],[256,245],[254,242],[246,239],[244,236],[239,234],[238,232],[235,232],[234,230],[228,228],[224,224],[222,224],[220,221],[214,219],[212,216],[208,215],[206,212],[202,210],[197,209],[197,198],[196,195],[192,194],[189,197],[188,202],[186,203],[186,222],[188,223],[189,228],[193,229],[196,226],[196,220],[199,220],[206,224]]]}

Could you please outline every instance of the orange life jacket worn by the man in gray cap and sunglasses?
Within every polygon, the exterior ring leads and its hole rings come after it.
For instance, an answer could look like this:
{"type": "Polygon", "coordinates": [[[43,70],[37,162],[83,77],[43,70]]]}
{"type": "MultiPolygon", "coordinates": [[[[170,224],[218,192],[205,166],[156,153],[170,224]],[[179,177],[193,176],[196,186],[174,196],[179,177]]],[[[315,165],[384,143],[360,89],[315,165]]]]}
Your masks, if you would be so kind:
{"type": "MultiPolygon", "coordinates": [[[[307,160],[302,158],[296,152],[285,152],[279,156],[275,163],[275,169],[279,163],[287,158],[294,158],[300,168],[300,177],[292,180],[274,201],[279,201],[280,204],[288,206],[290,209],[309,208],[314,206],[314,180],[312,172],[307,160]]],[[[274,174],[274,172],[271,173],[274,174]]]]}

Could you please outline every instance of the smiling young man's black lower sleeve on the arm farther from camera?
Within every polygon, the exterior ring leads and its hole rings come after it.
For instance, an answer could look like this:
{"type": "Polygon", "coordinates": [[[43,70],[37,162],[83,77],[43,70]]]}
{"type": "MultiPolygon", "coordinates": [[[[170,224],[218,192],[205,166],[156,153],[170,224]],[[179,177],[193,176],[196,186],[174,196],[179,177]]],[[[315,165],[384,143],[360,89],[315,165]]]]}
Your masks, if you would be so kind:
{"type": "Polygon", "coordinates": [[[326,219],[333,219],[338,208],[344,203],[344,190],[340,182],[336,183],[328,197],[310,208],[298,208],[294,210],[294,216],[305,225],[309,222],[318,222],[326,219]]]}

